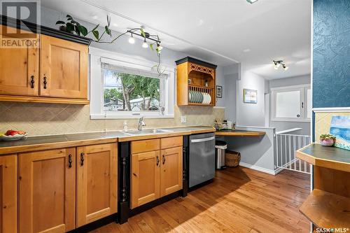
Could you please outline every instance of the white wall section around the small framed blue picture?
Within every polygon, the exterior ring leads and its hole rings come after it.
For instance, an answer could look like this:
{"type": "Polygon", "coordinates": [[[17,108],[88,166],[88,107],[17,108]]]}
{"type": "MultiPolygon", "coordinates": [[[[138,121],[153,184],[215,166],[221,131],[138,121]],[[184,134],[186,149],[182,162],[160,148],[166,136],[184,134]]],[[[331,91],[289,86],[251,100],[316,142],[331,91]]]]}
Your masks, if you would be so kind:
{"type": "Polygon", "coordinates": [[[237,125],[265,126],[265,78],[244,70],[244,66],[241,79],[237,80],[237,125]],[[258,103],[243,103],[243,89],[257,90],[258,103]]]}

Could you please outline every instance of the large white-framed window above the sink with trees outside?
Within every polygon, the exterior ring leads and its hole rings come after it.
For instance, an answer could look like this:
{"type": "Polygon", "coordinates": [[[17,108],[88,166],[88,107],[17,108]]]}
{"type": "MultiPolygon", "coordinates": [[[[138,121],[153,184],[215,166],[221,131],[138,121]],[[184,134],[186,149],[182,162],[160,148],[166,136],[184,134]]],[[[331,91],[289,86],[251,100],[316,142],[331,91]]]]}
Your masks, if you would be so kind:
{"type": "Polygon", "coordinates": [[[90,51],[90,118],[174,118],[174,69],[154,62],[90,51]]]}

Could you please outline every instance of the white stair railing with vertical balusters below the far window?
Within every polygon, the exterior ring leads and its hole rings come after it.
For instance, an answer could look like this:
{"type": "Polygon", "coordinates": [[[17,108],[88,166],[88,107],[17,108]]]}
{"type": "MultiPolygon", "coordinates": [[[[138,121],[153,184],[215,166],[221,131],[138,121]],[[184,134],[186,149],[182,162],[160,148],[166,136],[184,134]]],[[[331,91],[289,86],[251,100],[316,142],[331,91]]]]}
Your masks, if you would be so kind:
{"type": "Polygon", "coordinates": [[[276,167],[310,174],[310,164],[299,160],[296,150],[311,143],[311,136],[276,133],[276,167]]]}

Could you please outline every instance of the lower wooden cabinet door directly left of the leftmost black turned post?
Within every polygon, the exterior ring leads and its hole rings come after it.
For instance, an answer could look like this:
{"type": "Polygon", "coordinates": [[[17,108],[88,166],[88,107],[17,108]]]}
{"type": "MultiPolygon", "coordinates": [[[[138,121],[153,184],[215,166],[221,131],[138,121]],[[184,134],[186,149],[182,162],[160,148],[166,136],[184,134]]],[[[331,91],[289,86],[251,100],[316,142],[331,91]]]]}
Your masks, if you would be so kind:
{"type": "Polygon", "coordinates": [[[117,155],[117,143],[78,148],[78,227],[117,212],[117,155]]]}

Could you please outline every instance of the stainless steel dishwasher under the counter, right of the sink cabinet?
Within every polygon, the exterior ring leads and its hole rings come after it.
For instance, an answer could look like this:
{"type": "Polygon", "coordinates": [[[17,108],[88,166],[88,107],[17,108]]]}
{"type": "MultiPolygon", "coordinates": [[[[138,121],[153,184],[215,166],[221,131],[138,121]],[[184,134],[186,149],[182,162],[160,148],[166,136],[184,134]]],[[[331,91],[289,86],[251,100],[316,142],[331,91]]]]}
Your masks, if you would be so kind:
{"type": "Polygon", "coordinates": [[[189,187],[215,176],[215,134],[190,135],[189,187]]]}

